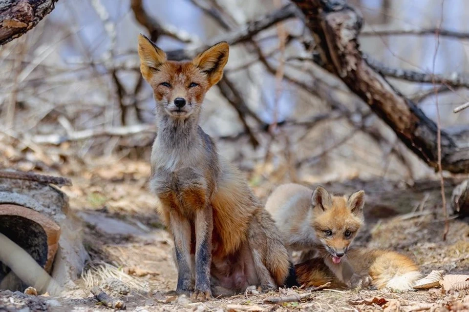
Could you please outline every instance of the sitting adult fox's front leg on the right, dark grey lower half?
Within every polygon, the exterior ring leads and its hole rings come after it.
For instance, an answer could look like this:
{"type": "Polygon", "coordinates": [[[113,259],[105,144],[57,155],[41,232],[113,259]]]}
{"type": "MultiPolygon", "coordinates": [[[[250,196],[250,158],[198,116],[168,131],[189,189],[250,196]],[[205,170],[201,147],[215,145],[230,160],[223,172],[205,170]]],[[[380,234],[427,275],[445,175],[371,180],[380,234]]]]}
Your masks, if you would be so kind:
{"type": "Polygon", "coordinates": [[[195,213],[195,291],[196,301],[212,298],[210,288],[210,266],[212,264],[212,206],[199,209],[195,213]]]}

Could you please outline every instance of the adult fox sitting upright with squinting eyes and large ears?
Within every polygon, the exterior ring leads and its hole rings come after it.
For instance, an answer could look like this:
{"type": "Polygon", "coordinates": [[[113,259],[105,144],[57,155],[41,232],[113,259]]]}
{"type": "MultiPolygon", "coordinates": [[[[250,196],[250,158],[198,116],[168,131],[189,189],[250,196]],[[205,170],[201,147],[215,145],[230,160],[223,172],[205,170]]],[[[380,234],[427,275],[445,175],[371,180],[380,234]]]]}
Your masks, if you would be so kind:
{"type": "Polygon", "coordinates": [[[249,285],[277,288],[289,276],[294,284],[293,264],[272,217],[198,126],[205,94],[222,78],[228,43],[192,60],[171,61],[140,35],[138,54],[156,100],[149,188],[174,239],[176,292],[205,300],[249,285]]]}

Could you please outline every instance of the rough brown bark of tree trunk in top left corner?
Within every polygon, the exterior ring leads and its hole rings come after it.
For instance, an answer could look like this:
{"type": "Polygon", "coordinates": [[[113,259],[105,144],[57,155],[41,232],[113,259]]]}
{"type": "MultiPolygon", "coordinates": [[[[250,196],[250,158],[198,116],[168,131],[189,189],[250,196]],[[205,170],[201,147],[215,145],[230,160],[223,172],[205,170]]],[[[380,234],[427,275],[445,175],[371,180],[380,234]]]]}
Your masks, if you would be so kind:
{"type": "Polygon", "coordinates": [[[0,0],[0,45],[21,37],[55,7],[58,0],[0,0]]]}

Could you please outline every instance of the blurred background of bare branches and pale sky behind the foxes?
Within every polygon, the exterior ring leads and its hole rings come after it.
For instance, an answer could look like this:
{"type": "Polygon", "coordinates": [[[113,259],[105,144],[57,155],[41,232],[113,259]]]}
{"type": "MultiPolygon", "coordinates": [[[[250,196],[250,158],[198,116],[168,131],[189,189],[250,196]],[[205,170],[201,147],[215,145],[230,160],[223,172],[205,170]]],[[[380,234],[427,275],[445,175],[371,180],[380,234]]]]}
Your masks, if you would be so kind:
{"type": "MultiPolygon", "coordinates": [[[[467,33],[465,0],[353,0],[362,50],[391,68],[432,71],[436,37],[382,35],[442,28],[467,33]]],[[[95,157],[149,159],[154,100],[136,39],[165,51],[235,38],[280,0],[60,0],[26,35],[1,47],[0,165],[73,175],[95,157]],[[140,19],[140,21],[138,20],[140,19]],[[230,37],[234,36],[234,37],[230,37]],[[70,168],[64,164],[76,163],[70,168]]],[[[433,176],[366,104],[311,61],[303,23],[281,17],[231,45],[225,79],[207,95],[201,126],[253,183],[433,176]],[[256,174],[257,173],[257,174],[256,174]]],[[[435,73],[465,73],[468,42],[441,36],[435,73]]],[[[389,78],[435,120],[433,86],[389,78]]],[[[442,88],[442,126],[468,124],[466,89],[442,88]]]]}

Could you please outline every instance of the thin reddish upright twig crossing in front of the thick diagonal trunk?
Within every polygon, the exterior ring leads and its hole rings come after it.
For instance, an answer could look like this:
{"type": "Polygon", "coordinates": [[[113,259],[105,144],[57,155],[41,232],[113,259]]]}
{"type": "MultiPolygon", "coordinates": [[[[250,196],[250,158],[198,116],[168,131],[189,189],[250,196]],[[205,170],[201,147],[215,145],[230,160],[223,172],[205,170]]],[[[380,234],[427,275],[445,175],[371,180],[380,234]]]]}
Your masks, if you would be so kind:
{"type": "MultiPolygon", "coordinates": [[[[441,0],[441,18],[440,18],[440,29],[443,25],[443,8],[445,0],[441,0]]],[[[435,73],[435,63],[436,55],[438,53],[438,48],[440,47],[440,36],[439,29],[435,33],[436,37],[436,47],[435,53],[433,54],[433,66],[432,71],[435,73]]],[[[437,149],[438,149],[438,172],[440,174],[440,186],[441,186],[441,198],[443,201],[443,213],[445,215],[445,231],[443,232],[443,240],[446,240],[446,235],[449,231],[448,223],[448,209],[446,207],[446,195],[445,195],[445,179],[443,177],[443,168],[441,166],[441,121],[440,121],[440,106],[438,105],[438,89],[436,88],[435,75],[432,75],[432,83],[435,89],[435,107],[436,107],[436,125],[437,125],[437,149]]]]}

